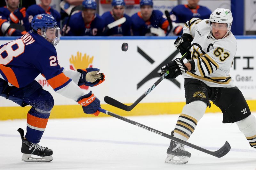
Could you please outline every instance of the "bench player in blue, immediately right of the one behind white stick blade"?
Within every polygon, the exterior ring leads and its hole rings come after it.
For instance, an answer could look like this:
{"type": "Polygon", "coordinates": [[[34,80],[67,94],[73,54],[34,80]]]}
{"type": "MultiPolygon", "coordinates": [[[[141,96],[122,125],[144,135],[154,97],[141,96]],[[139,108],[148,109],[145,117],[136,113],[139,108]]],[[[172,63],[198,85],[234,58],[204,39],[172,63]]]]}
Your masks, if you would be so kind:
{"type": "Polygon", "coordinates": [[[152,0],[141,0],[140,11],[132,15],[132,32],[133,35],[146,35],[150,28],[162,28],[165,32],[169,22],[163,18],[163,13],[153,10],[152,0]]]}

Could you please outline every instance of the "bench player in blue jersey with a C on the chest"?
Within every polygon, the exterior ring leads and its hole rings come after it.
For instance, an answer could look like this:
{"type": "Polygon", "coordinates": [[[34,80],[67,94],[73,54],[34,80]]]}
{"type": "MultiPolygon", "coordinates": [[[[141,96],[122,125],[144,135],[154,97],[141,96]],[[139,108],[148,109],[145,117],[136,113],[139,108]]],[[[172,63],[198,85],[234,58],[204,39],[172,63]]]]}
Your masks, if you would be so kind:
{"type": "Polygon", "coordinates": [[[66,23],[62,31],[65,31],[65,35],[70,36],[102,35],[104,21],[98,14],[96,14],[96,1],[84,0],[82,5],[83,11],[72,15],[68,26],[66,23]]]}

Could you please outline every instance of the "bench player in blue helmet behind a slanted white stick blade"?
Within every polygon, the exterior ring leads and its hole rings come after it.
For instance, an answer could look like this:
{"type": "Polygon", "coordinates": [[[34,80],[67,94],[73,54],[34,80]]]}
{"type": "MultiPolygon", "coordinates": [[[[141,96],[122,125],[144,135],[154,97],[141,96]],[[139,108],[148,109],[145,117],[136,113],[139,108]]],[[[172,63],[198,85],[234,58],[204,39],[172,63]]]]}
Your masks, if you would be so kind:
{"type": "Polygon", "coordinates": [[[125,17],[126,21],[119,26],[109,29],[105,35],[121,35],[121,36],[131,35],[132,19],[131,17],[129,17],[124,13],[124,8],[125,8],[124,0],[113,0],[111,4],[112,4],[112,11],[107,11],[101,16],[101,18],[105,21],[105,27],[108,24],[122,17],[125,17]]]}

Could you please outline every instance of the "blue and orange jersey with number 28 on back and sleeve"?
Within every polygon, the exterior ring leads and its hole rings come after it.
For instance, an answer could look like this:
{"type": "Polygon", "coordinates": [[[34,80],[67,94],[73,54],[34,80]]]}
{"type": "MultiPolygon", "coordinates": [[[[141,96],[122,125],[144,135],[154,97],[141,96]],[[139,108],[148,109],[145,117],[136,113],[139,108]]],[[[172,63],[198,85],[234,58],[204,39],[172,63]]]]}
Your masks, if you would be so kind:
{"type": "Polygon", "coordinates": [[[55,47],[32,31],[0,47],[0,76],[16,87],[42,74],[57,91],[72,81],[61,71],[55,47]]]}

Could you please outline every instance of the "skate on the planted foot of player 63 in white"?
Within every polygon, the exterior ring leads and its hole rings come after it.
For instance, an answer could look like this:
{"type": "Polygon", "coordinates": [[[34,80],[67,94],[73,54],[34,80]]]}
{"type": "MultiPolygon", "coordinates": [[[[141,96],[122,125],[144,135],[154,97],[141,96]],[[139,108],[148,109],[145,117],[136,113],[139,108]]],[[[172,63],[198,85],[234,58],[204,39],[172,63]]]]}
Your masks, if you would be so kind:
{"type": "MultiPolygon", "coordinates": [[[[173,136],[173,131],[171,135],[173,136]]],[[[191,153],[184,149],[183,144],[172,140],[166,153],[167,158],[165,159],[165,163],[170,164],[186,164],[188,163],[188,158],[191,156],[191,153]]]]}

